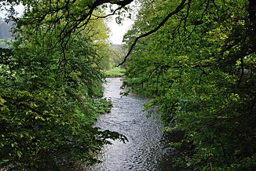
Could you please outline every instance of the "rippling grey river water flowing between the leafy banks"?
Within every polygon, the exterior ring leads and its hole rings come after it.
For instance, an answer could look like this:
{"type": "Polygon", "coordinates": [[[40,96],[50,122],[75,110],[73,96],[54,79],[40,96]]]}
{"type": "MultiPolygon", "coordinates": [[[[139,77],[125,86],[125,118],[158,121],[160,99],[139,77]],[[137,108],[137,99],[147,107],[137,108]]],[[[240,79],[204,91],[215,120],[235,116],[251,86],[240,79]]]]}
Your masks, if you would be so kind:
{"type": "Polygon", "coordinates": [[[101,129],[122,133],[129,142],[119,140],[104,147],[99,159],[101,163],[91,171],[172,170],[166,159],[166,147],[161,137],[163,126],[155,116],[143,111],[147,101],[130,94],[121,97],[122,78],[107,78],[104,84],[104,97],[112,100],[112,112],[101,115],[96,123],[101,129]]]}

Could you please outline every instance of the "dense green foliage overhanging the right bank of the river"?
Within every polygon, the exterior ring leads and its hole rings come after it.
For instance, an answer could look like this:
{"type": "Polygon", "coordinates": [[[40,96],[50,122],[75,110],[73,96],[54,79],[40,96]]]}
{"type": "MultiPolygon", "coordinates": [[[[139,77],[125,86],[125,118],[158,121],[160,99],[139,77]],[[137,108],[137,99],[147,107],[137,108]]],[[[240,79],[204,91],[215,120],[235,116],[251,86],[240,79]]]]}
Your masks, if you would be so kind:
{"type": "MultiPolygon", "coordinates": [[[[187,1],[128,58],[126,86],[151,96],[182,170],[255,168],[255,5],[251,1],[187,1]],[[174,126],[172,126],[174,125],[174,126]]],[[[125,40],[152,31],[179,1],[141,1],[125,40]]]]}

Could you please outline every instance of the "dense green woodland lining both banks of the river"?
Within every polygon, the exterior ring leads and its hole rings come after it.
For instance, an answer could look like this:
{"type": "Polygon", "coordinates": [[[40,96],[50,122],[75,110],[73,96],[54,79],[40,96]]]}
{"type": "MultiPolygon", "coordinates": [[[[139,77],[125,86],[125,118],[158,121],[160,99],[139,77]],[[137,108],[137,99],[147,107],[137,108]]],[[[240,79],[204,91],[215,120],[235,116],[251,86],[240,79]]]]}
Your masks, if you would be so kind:
{"type": "Polygon", "coordinates": [[[139,0],[121,60],[104,18],[122,22],[131,2],[0,2],[14,25],[0,48],[0,169],[72,170],[97,162],[110,140],[125,142],[93,127],[110,105],[101,99],[103,71],[116,63],[126,67],[124,86],[151,99],[146,109],[157,107],[163,131],[178,134],[167,142],[177,151],[170,165],[256,168],[256,2],[139,0]]]}

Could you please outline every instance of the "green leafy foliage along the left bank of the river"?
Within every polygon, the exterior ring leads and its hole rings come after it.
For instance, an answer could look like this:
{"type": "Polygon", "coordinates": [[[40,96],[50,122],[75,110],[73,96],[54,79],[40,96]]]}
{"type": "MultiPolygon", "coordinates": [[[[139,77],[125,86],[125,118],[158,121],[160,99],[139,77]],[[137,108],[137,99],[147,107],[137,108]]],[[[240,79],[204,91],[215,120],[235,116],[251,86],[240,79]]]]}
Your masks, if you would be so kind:
{"type": "MultiPolygon", "coordinates": [[[[42,13],[26,9],[19,20],[42,13]]],[[[108,56],[103,20],[97,20],[97,27],[88,20],[84,30],[60,41],[67,23],[61,20],[51,27],[49,19],[18,24],[9,49],[0,49],[1,169],[72,169],[79,161],[97,162],[95,155],[110,140],[126,140],[93,127],[110,105],[99,100],[101,60],[108,56]]]]}

